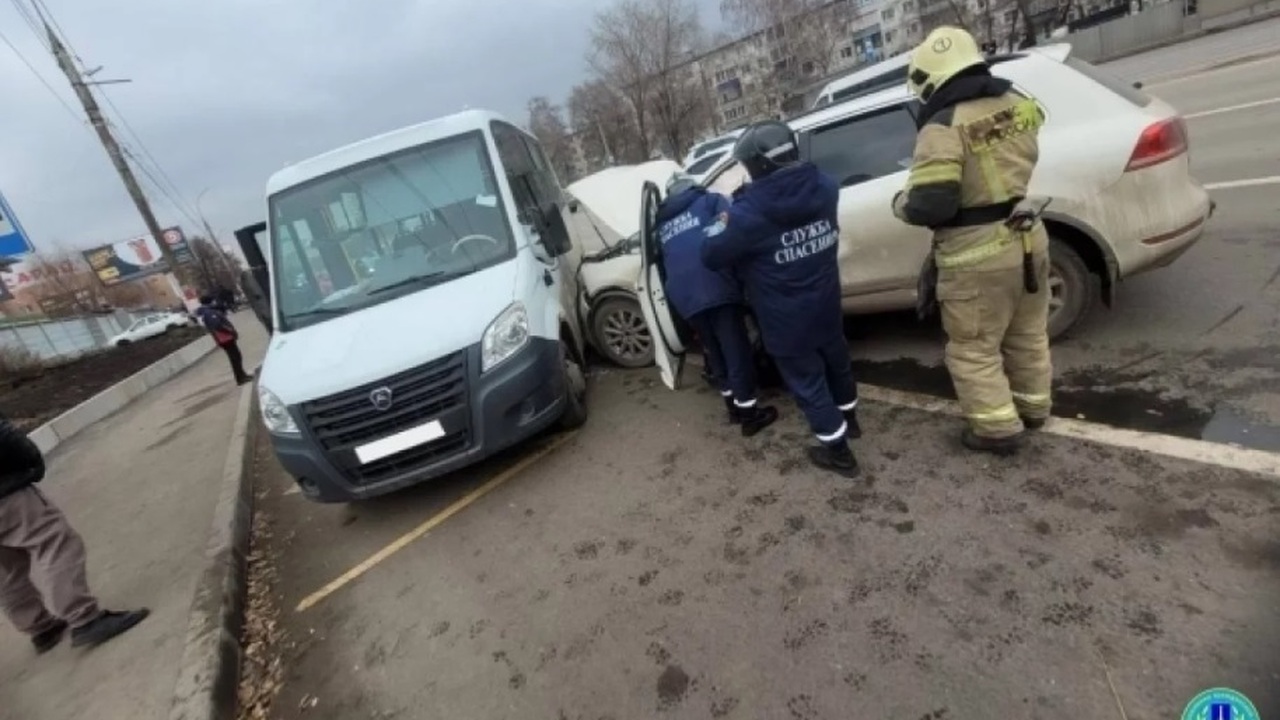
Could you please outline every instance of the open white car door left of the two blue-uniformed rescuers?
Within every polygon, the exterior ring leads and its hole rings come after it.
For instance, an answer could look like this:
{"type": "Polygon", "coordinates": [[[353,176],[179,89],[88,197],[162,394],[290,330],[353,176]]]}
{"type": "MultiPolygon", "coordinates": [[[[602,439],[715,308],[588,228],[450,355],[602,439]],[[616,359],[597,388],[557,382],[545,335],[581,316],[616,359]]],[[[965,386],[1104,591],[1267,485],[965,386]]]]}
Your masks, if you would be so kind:
{"type": "Polygon", "coordinates": [[[640,311],[653,336],[653,359],[662,373],[662,382],[671,389],[680,389],[680,377],[685,370],[685,343],[676,329],[673,310],[667,304],[663,288],[666,273],[662,268],[662,242],[658,240],[658,186],[645,182],[640,190],[640,277],[636,278],[636,297],[640,311]]]}

